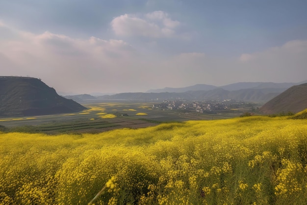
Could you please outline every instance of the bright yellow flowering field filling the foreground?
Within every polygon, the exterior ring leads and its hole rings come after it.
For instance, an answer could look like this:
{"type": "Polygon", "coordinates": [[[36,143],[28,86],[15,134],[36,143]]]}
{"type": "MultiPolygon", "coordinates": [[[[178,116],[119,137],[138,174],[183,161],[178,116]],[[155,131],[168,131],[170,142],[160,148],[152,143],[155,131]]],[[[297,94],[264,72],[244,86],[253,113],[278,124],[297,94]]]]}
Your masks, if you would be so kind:
{"type": "Polygon", "coordinates": [[[99,134],[1,133],[0,204],[304,205],[306,122],[237,117],[99,134]]]}

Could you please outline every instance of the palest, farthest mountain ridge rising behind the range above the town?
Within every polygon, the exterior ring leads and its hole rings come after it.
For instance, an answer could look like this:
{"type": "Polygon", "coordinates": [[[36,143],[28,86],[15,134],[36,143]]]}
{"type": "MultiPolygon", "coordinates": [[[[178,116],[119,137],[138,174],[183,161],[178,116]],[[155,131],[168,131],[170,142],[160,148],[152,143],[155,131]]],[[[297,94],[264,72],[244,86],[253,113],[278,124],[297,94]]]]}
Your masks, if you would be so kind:
{"type": "Polygon", "coordinates": [[[211,90],[218,88],[216,86],[197,84],[195,86],[189,86],[184,88],[162,88],[162,89],[150,89],[146,92],[186,92],[190,90],[211,90]]]}

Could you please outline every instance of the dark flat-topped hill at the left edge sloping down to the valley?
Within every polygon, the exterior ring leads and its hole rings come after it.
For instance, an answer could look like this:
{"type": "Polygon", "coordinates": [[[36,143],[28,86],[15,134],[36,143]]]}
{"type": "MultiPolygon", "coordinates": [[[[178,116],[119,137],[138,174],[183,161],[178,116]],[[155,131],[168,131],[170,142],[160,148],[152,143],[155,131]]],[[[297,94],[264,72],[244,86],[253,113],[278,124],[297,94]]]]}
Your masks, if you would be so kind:
{"type": "Polygon", "coordinates": [[[0,116],[38,116],[86,109],[56,93],[40,79],[0,76],[0,116]]]}

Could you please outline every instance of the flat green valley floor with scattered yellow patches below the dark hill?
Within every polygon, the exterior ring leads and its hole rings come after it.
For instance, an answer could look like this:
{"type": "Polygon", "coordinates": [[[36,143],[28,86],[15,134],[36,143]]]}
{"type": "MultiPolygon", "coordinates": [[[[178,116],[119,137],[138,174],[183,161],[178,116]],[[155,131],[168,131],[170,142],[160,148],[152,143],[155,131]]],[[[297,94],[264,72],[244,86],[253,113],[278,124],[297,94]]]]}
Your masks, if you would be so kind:
{"type": "Polygon", "coordinates": [[[196,112],[156,110],[151,103],[101,102],[83,104],[84,112],[33,116],[0,117],[0,125],[13,131],[44,133],[98,133],[119,128],[140,128],[161,122],[237,117],[239,112],[228,114],[199,114],[196,112]]]}

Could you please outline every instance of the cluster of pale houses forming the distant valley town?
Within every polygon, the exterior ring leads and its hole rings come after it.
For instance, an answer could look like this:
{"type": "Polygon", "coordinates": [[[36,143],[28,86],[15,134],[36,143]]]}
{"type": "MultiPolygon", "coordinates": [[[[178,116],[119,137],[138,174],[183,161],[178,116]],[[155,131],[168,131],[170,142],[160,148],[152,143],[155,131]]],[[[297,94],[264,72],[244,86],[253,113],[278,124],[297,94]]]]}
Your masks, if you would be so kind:
{"type": "Polygon", "coordinates": [[[162,103],[154,104],[154,109],[159,110],[187,110],[196,111],[198,113],[235,110],[235,107],[244,102],[234,101],[230,99],[225,100],[206,100],[200,102],[189,102],[185,100],[164,100],[162,103]]]}

